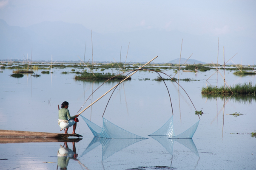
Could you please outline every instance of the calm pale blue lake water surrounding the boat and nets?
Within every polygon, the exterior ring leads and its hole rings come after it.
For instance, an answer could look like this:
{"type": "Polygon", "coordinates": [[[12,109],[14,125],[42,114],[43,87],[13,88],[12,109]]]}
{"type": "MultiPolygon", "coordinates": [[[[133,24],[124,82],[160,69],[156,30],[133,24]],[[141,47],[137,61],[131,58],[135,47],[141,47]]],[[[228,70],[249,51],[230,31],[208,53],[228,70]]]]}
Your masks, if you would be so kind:
{"type": "MultiPolygon", "coordinates": [[[[76,69],[81,71],[82,69],[76,69]]],[[[12,78],[12,70],[0,70],[0,129],[60,133],[57,124],[58,108],[69,102],[71,116],[77,114],[85,100],[102,82],[75,81],[71,68],[53,69],[53,74],[41,77],[12,78]]],[[[116,72],[105,70],[104,72],[116,72]]],[[[174,70],[162,70],[174,76],[174,70]]],[[[67,142],[69,152],[76,148],[77,158],[58,159],[64,142],[23,142],[0,144],[1,170],[60,169],[65,163],[68,170],[233,170],[256,169],[256,98],[205,98],[203,86],[216,86],[215,70],[207,72],[180,72],[179,78],[199,81],[179,81],[196,110],[205,114],[192,139],[149,137],[172,116],[170,99],[165,84],[153,81],[154,72],[139,71],[131,81],[117,87],[106,108],[104,118],[115,125],[148,139],[97,139],[79,117],[76,132],[83,136],[79,142],[67,142]],[[149,78],[150,80],[143,80],[149,78]],[[225,105],[225,106],[224,106],[225,105]],[[233,113],[242,115],[234,117],[233,113]],[[74,144],[74,145],[73,145],[74,144]],[[64,162],[64,163],[63,163],[64,162]]],[[[221,71],[223,75],[223,70],[221,71]]],[[[226,70],[229,85],[252,82],[255,76],[235,76],[226,70]]],[[[178,78],[178,75],[175,76],[178,78]]],[[[167,77],[165,77],[167,78],[167,77]]],[[[82,109],[111,89],[117,81],[101,86],[82,109]]],[[[175,134],[195,124],[199,117],[186,93],[174,82],[166,81],[174,111],[175,134]]],[[[218,86],[223,80],[218,75],[218,86]]],[[[102,114],[111,93],[100,99],[82,115],[102,127],[102,114]]],[[[62,131],[63,132],[63,131],[62,131]]],[[[68,130],[72,132],[71,128],[68,130]]],[[[64,133],[64,132],[63,132],[64,133]]],[[[0,139],[0,141],[3,139],[0,139]]],[[[67,149],[66,149],[67,150],[67,149]]],[[[73,150],[74,152],[74,150],[73,150]]]]}

